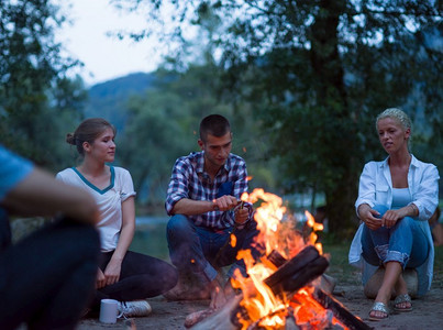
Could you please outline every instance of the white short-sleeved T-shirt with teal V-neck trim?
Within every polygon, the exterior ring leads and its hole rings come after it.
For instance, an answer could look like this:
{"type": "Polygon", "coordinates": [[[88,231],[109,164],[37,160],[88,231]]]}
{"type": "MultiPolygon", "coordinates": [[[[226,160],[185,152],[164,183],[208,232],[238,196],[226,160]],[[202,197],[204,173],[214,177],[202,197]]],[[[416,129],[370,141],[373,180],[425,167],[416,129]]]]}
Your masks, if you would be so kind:
{"type": "Polygon", "coordinates": [[[74,167],[66,168],[56,176],[65,184],[88,190],[95,197],[100,210],[97,229],[100,233],[102,252],[115,250],[122,228],[122,202],[135,196],[131,174],[122,167],[110,166],[110,169],[111,183],[104,189],[92,185],[74,167]]]}

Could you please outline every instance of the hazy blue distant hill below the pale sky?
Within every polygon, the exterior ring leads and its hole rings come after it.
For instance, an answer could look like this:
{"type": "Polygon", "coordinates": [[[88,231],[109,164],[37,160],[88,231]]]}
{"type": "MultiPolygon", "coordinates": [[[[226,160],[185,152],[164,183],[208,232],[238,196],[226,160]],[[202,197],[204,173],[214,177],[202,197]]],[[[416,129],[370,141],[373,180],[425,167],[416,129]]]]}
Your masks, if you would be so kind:
{"type": "Polygon", "coordinates": [[[121,132],[126,122],[128,99],[134,95],[143,95],[147,89],[154,88],[155,84],[155,74],[136,73],[93,85],[88,91],[85,117],[106,118],[121,132]]]}

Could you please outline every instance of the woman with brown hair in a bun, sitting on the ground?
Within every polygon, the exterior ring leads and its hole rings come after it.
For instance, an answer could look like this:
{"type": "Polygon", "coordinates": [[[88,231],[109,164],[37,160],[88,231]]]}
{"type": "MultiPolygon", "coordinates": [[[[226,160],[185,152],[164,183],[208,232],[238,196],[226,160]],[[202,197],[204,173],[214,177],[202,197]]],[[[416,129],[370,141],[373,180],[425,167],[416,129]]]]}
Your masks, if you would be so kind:
{"type": "Polygon", "coordinates": [[[168,292],[178,277],[168,263],[128,250],[135,231],[135,191],[126,169],[106,164],[114,161],[114,138],[115,129],[104,119],[81,122],[67,142],[77,146],[82,163],[59,172],[57,179],[88,190],[100,210],[101,261],[92,310],[111,298],[126,317],[147,316],[151,306],[144,299],[168,292]]]}

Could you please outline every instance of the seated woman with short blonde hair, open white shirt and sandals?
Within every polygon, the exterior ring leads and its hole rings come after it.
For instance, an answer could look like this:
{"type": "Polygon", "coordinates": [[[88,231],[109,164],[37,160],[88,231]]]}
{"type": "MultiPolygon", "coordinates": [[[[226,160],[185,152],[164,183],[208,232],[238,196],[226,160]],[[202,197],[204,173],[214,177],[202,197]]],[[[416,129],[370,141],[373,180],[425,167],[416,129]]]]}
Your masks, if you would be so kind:
{"type": "Polygon", "coordinates": [[[362,224],[353,240],[350,263],[363,256],[364,284],[378,266],[385,267],[370,320],[389,315],[388,301],[396,294],[395,310],[412,310],[411,298],[402,276],[416,268],[418,296],[432,282],[434,249],[428,219],[439,202],[439,172],[432,164],[409,153],[411,121],[399,109],[387,109],[376,120],[379,141],[388,153],[383,162],[365,165],[355,202],[362,224]]]}

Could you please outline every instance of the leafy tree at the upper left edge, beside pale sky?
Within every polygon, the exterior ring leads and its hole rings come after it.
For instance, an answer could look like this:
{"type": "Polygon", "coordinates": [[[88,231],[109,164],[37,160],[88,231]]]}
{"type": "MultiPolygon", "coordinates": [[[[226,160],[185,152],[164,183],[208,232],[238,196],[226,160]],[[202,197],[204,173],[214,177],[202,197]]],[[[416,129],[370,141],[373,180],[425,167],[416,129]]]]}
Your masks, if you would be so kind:
{"type": "Polygon", "coordinates": [[[0,2],[0,141],[53,168],[66,155],[55,143],[63,124],[78,119],[86,97],[82,81],[65,76],[78,63],[54,41],[64,20],[47,0],[0,2]]]}

